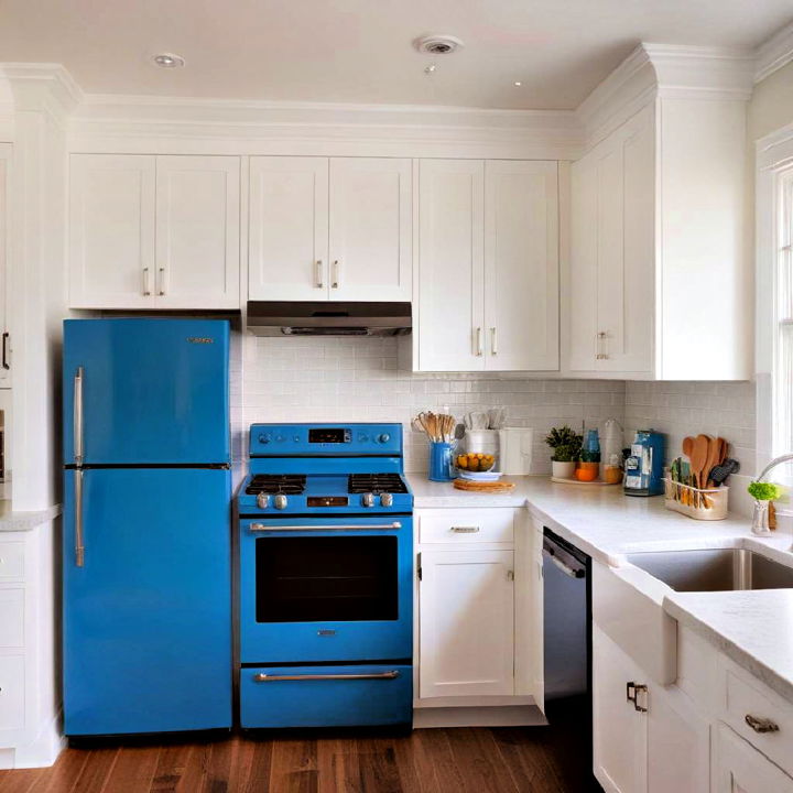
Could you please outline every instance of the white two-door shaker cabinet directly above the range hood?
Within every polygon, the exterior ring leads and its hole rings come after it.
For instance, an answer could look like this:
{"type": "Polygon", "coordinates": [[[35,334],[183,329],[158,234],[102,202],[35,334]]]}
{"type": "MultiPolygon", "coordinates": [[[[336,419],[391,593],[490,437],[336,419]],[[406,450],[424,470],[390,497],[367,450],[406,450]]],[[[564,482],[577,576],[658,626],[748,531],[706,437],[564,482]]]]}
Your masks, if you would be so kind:
{"type": "Polygon", "coordinates": [[[250,160],[248,296],[410,301],[412,161],[250,160]]]}

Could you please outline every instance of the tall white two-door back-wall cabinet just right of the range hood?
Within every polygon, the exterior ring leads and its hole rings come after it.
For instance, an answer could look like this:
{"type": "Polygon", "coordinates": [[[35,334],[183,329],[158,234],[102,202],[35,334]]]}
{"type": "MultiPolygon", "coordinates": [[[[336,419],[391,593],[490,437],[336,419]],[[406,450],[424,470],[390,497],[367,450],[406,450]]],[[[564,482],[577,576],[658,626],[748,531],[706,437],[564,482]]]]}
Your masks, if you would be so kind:
{"type": "Polygon", "coordinates": [[[557,164],[422,160],[419,204],[414,369],[557,369],[557,164]]]}

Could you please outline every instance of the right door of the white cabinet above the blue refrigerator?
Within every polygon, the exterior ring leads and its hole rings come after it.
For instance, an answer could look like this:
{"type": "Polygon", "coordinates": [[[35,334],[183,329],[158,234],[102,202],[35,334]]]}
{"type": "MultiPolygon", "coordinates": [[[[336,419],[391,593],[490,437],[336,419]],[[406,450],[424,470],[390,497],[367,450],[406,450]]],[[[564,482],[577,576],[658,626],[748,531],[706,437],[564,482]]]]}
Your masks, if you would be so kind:
{"type": "Polygon", "coordinates": [[[157,308],[238,308],[240,161],[156,160],[157,308]]]}

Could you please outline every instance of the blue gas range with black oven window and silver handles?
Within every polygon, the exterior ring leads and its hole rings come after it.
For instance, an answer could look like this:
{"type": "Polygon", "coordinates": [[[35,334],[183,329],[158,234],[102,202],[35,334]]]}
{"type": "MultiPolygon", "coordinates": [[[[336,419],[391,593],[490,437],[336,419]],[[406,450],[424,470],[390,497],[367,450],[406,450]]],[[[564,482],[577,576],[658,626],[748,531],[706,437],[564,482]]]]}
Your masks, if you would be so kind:
{"type": "Polygon", "coordinates": [[[238,495],[243,728],[410,725],[401,424],[253,424],[238,495]]]}

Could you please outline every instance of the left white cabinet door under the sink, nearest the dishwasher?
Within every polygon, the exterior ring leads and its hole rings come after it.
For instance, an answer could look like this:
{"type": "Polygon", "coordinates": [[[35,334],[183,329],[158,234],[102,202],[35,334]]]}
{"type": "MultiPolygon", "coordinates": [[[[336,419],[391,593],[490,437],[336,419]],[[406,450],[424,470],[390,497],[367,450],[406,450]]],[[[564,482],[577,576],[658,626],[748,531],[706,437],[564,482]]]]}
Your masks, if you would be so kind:
{"type": "MultiPolygon", "coordinates": [[[[628,683],[645,681],[633,661],[594,626],[593,761],[595,776],[608,793],[647,790],[647,718],[628,699],[628,683]]],[[[640,696],[640,707],[647,707],[647,696],[640,696]]]]}

